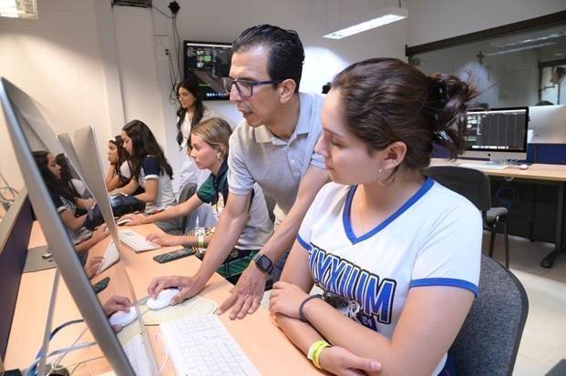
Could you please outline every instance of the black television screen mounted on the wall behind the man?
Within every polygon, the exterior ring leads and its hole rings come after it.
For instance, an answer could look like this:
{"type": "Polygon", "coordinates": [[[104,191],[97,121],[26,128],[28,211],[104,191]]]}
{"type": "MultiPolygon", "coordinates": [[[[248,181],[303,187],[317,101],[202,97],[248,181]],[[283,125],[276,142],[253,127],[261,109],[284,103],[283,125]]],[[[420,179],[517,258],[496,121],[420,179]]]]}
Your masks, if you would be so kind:
{"type": "Polygon", "coordinates": [[[232,45],[228,43],[183,41],[185,79],[196,78],[203,100],[228,99],[222,77],[230,72],[232,45]]]}

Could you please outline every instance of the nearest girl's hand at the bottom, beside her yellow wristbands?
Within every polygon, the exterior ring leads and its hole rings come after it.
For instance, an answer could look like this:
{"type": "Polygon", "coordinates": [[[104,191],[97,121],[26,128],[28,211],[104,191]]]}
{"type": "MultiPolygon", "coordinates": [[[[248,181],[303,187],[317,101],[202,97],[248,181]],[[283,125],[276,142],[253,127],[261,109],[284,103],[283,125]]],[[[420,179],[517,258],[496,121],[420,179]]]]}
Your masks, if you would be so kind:
{"type": "Polygon", "coordinates": [[[381,371],[381,363],[374,359],[362,358],[340,346],[324,349],[320,353],[319,363],[324,371],[335,375],[357,376],[366,372],[381,371]]]}

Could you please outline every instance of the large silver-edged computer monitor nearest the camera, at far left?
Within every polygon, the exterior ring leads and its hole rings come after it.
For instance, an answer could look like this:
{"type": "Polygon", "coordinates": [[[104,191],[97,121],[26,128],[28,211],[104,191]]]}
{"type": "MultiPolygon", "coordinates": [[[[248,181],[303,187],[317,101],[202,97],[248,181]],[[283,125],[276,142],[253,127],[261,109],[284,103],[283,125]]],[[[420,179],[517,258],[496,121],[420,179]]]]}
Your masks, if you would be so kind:
{"type": "MultiPolygon", "coordinates": [[[[72,241],[73,234],[81,231],[83,229],[81,226],[84,226],[81,223],[78,223],[77,226],[74,224],[86,220],[87,215],[76,212],[77,217],[65,216],[64,218],[64,215],[61,214],[66,211],[73,214],[72,212],[79,207],[79,202],[76,199],[67,198],[67,189],[62,191],[57,188],[57,184],[64,183],[60,174],[57,173],[57,166],[51,162],[61,147],[53,129],[49,127],[45,118],[41,117],[36,101],[4,78],[0,80],[0,101],[5,110],[6,124],[18,164],[22,171],[26,171],[23,175],[28,196],[57,263],[57,270],[65,279],[67,288],[77,303],[77,308],[86,321],[88,329],[117,374],[134,374],[136,363],[130,362],[127,355],[128,349],[133,347],[141,349],[143,356],[139,356],[147,360],[143,370],[136,369],[136,373],[157,374],[156,364],[149,349],[145,325],[136,304],[139,302],[121,260],[124,250],[118,245],[116,251],[113,252],[116,254],[115,263],[109,265],[108,269],[89,268],[89,250],[97,242],[104,241],[107,249],[105,258],[108,257],[110,255],[108,249],[112,250],[110,239],[108,239],[108,233],[101,228],[93,231],[90,237],[80,242],[72,241]],[[41,142],[43,139],[40,135],[49,137],[49,140],[46,140],[48,142],[41,142]],[[57,151],[48,147],[53,144],[58,145],[57,151]],[[72,225],[68,224],[69,220],[72,225]],[[107,277],[106,287],[98,283],[103,282],[107,277]],[[93,289],[97,285],[100,286],[98,292],[93,289]],[[127,322],[112,321],[112,318],[119,313],[116,309],[118,302],[121,302],[122,306],[125,302],[134,304],[126,315],[120,314],[121,319],[129,319],[127,322]]],[[[92,137],[93,135],[94,132],[90,127],[78,130],[76,153],[68,153],[70,148],[67,147],[67,158],[73,160],[76,156],[71,154],[77,154],[79,160],[73,163],[77,163],[75,167],[79,170],[79,176],[88,177],[83,184],[87,186],[89,182],[90,188],[98,188],[104,185],[104,178],[99,171],[99,161],[85,162],[87,158],[98,158],[98,153],[95,152],[97,150],[96,139],[92,137]],[[87,156],[83,156],[84,153],[88,153],[87,156]],[[101,181],[93,184],[92,180],[96,178],[101,181]]],[[[98,190],[91,189],[95,198],[98,190]]],[[[108,198],[99,198],[100,202],[106,200],[108,198]]],[[[113,221],[113,218],[110,221],[113,221]]],[[[108,227],[115,228],[110,221],[107,220],[108,227]]],[[[54,322],[54,325],[57,324],[60,322],[54,322]]],[[[42,352],[45,354],[46,351],[46,346],[44,346],[42,352]]],[[[32,360],[30,359],[30,362],[32,360]]]]}

